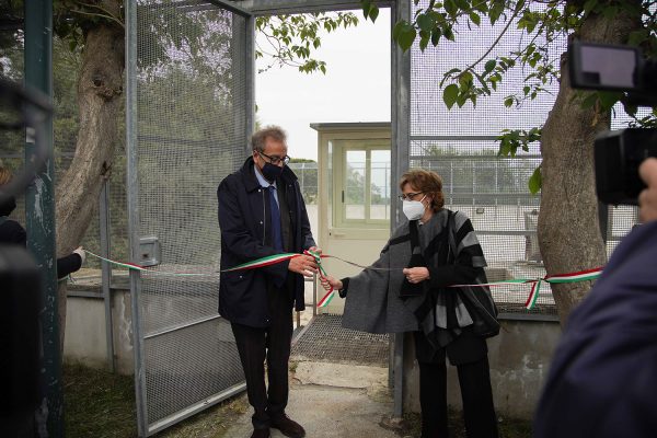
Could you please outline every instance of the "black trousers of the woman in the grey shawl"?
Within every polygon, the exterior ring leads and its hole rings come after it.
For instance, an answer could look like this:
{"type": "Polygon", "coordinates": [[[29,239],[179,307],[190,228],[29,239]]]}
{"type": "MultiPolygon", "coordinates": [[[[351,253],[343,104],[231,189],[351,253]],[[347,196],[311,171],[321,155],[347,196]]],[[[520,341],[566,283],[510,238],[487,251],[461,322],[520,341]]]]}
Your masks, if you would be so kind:
{"type": "MultiPolygon", "coordinates": [[[[416,333],[416,337],[424,336],[416,333]]],[[[483,339],[482,339],[483,341],[483,339]]],[[[416,341],[416,345],[417,345],[416,341]]],[[[422,351],[420,351],[422,353],[422,351]]],[[[447,438],[447,365],[445,350],[434,360],[420,360],[419,406],[422,408],[422,438],[447,438]]],[[[463,416],[469,438],[497,438],[497,418],[493,405],[493,389],[488,357],[457,364],[463,400],[463,416]]]]}

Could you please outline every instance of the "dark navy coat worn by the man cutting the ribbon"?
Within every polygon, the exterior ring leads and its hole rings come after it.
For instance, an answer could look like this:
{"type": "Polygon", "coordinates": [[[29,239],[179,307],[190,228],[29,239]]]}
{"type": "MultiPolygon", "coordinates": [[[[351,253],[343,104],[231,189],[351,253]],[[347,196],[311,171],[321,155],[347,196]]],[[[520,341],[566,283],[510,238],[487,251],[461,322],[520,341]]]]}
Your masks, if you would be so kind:
{"type": "MultiPolygon", "coordinates": [[[[255,176],[253,158],[219,184],[219,227],[221,228],[221,269],[278,252],[270,244],[268,194],[255,176]]],[[[277,181],[285,189],[291,219],[292,252],[314,246],[306,204],[295,173],[285,166],[277,181]]],[[[219,314],[228,321],[253,327],[269,325],[267,285],[290,285],[298,311],[303,310],[303,276],[288,270],[288,262],[249,270],[222,273],[219,284],[219,314]],[[286,281],[287,276],[293,281],[286,281]]]]}

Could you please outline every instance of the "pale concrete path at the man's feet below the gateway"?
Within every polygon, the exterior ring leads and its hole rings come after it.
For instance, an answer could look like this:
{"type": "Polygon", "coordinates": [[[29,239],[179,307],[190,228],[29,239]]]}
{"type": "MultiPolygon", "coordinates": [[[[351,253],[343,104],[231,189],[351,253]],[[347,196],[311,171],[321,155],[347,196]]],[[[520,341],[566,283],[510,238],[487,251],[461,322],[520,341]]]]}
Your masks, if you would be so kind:
{"type": "MultiPolygon", "coordinates": [[[[387,382],[387,368],[298,362],[291,372],[287,414],[306,428],[308,438],[399,438],[380,425],[392,412],[387,382]]],[[[249,438],[251,415],[249,410],[226,436],[249,438]]],[[[280,437],[272,429],[272,438],[280,437]]]]}

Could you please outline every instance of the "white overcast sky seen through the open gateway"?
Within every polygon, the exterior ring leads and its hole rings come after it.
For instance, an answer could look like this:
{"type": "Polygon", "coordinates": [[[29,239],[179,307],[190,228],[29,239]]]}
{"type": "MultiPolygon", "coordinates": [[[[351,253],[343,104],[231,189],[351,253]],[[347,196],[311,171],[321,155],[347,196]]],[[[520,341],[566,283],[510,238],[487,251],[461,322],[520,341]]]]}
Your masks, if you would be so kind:
{"type": "Polygon", "coordinates": [[[390,10],[376,23],[355,13],[358,26],[323,34],[313,54],[326,61],[326,74],[274,67],[256,76],[256,118],[287,130],[290,157],[316,160],[311,123],[390,122],[390,10]]]}

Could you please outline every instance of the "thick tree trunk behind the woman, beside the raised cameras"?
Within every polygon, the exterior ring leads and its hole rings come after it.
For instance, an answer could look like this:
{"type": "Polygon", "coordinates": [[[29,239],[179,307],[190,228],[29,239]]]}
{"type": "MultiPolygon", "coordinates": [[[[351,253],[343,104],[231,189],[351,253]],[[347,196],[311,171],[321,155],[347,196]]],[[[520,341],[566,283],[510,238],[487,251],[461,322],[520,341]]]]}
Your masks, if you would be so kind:
{"type": "MultiPolygon", "coordinates": [[[[621,13],[607,20],[591,14],[578,36],[584,42],[624,44],[630,32],[639,27],[638,16],[621,13]]],[[[543,186],[538,232],[549,275],[590,269],[607,261],[598,219],[593,140],[609,129],[610,114],[585,110],[574,97],[564,55],[560,91],[541,136],[543,186]]],[[[591,281],[552,285],[562,326],[590,287],[591,281]]]]}

